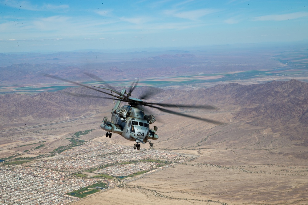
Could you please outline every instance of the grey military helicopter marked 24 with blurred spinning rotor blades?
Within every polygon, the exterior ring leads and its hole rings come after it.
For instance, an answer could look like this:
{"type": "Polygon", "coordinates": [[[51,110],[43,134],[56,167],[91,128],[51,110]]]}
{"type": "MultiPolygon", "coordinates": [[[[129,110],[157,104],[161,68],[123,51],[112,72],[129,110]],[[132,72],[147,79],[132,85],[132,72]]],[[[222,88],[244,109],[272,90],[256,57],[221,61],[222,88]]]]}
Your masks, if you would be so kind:
{"type": "MultiPolygon", "coordinates": [[[[89,77],[94,78],[97,81],[102,81],[99,77],[86,73],[89,77]]],[[[200,118],[197,116],[187,115],[180,112],[175,112],[169,109],[165,109],[164,107],[170,108],[200,108],[200,109],[218,109],[212,105],[183,105],[183,104],[165,104],[165,103],[153,103],[153,102],[146,102],[141,99],[146,100],[152,93],[145,93],[144,95],[140,96],[139,98],[131,97],[132,92],[138,85],[138,81],[136,80],[130,86],[130,89],[127,91],[125,88],[121,90],[121,92],[116,91],[114,88],[109,86],[107,83],[103,82],[107,88],[94,86],[90,87],[87,85],[83,85],[74,81],[69,81],[60,77],[52,76],[52,75],[45,75],[47,77],[51,77],[54,79],[58,79],[61,81],[66,81],[69,83],[73,83],[75,85],[79,85],[82,87],[86,87],[88,89],[96,90],[98,92],[107,94],[111,97],[99,97],[99,98],[107,98],[107,99],[116,99],[115,106],[111,111],[111,119],[109,120],[107,116],[103,118],[103,123],[100,127],[106,131],[106,137],[112,136],[112,133],[117,133],[124,137],[127,140],[135,141],[134,149],[140,149],[140,144],[149,143],[150,147],[153,147],[153,143],[151,140],[157,140],[158,135],[156,134],[157,127],[153,126],[150,128],[150,124],[156,121],[155,116],[152,114],[145,114],[144,109],[145,107],[151,107],[158,109],[162,112],[167,112],[175,115],[190,117],[197,120],[202,120],[205,122],[213,123],[213,124],[222,124],[219,121],[210,120],[206,118],[200,118]],[[96,89],[98,88],[98,89],[96,89]],[[103,90],[109,90],[111,93],[107,93],[103,90]],[[121,102],[127,102],[127,105],[120,106],[121,102]]],[[[98,97],[92,95],[83,95],[83,97],[98,97]]]]}

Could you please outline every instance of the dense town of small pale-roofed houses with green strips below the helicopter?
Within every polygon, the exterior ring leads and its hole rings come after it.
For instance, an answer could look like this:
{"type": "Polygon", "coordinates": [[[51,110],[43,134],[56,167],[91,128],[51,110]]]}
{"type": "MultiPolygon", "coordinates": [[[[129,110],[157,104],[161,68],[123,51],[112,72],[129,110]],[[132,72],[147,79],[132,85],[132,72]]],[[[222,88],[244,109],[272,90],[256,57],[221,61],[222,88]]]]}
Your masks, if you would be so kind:
{"type": "Polygon", "coordinates": [[[0,204],[67,204],[80,199],[69,193],[81,188],[106,183],[100,190],[108,190],[194,157],[88,141],[54,157],[0,165],[0,204]]]}

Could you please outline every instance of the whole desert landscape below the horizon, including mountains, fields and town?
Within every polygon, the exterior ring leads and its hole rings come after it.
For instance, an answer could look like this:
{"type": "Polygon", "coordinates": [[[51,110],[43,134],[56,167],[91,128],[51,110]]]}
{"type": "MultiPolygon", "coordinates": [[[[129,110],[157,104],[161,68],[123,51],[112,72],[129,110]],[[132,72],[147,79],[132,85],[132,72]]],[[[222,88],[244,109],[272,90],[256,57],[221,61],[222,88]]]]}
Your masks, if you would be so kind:
{"type": "Polygon", "coordinates": [[[11,178],[0,195],[16,199],[0,202],[308,204],[305,48],[1,54],[0,170],[11,178]],[[221,124],[147,109],[159,139],[137,151],[99,127],[113,100],[45,74],[117,90],[139,78],[132,97],[214,105],[172,110],[221,124]],[[126,166],[139,170],[121,175],[126,166]],[[39,181],[28,184],[32,177],[39,181]],[[98,183],[102,190],[70,194],[98,183]],[[69,184],[76,186],[65,191],[69,184]]]}

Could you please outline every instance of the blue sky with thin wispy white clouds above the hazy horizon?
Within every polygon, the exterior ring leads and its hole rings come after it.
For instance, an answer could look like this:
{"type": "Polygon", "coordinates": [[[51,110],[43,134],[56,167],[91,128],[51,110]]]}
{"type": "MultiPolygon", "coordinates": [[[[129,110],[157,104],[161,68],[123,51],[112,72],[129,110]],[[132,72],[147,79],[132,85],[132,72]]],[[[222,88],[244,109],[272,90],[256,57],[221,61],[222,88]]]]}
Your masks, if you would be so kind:
{"type": "Polygon", "coordinates": [[[0,0],[2,53],[307,39],[307,0],[0,0]]]}

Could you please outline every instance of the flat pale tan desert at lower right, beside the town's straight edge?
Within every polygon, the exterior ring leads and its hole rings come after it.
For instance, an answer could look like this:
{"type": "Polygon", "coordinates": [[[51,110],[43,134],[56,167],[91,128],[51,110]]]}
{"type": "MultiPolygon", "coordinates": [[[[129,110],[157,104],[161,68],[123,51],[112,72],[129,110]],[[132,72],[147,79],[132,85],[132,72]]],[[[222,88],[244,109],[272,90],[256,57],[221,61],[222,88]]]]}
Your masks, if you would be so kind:
{"type": "Polygon", "coordinates": [[[197,152],[200,157],[194,160],[73,204],[308,203],[308,166],[301,160],[264,150],[197,152]]]}

